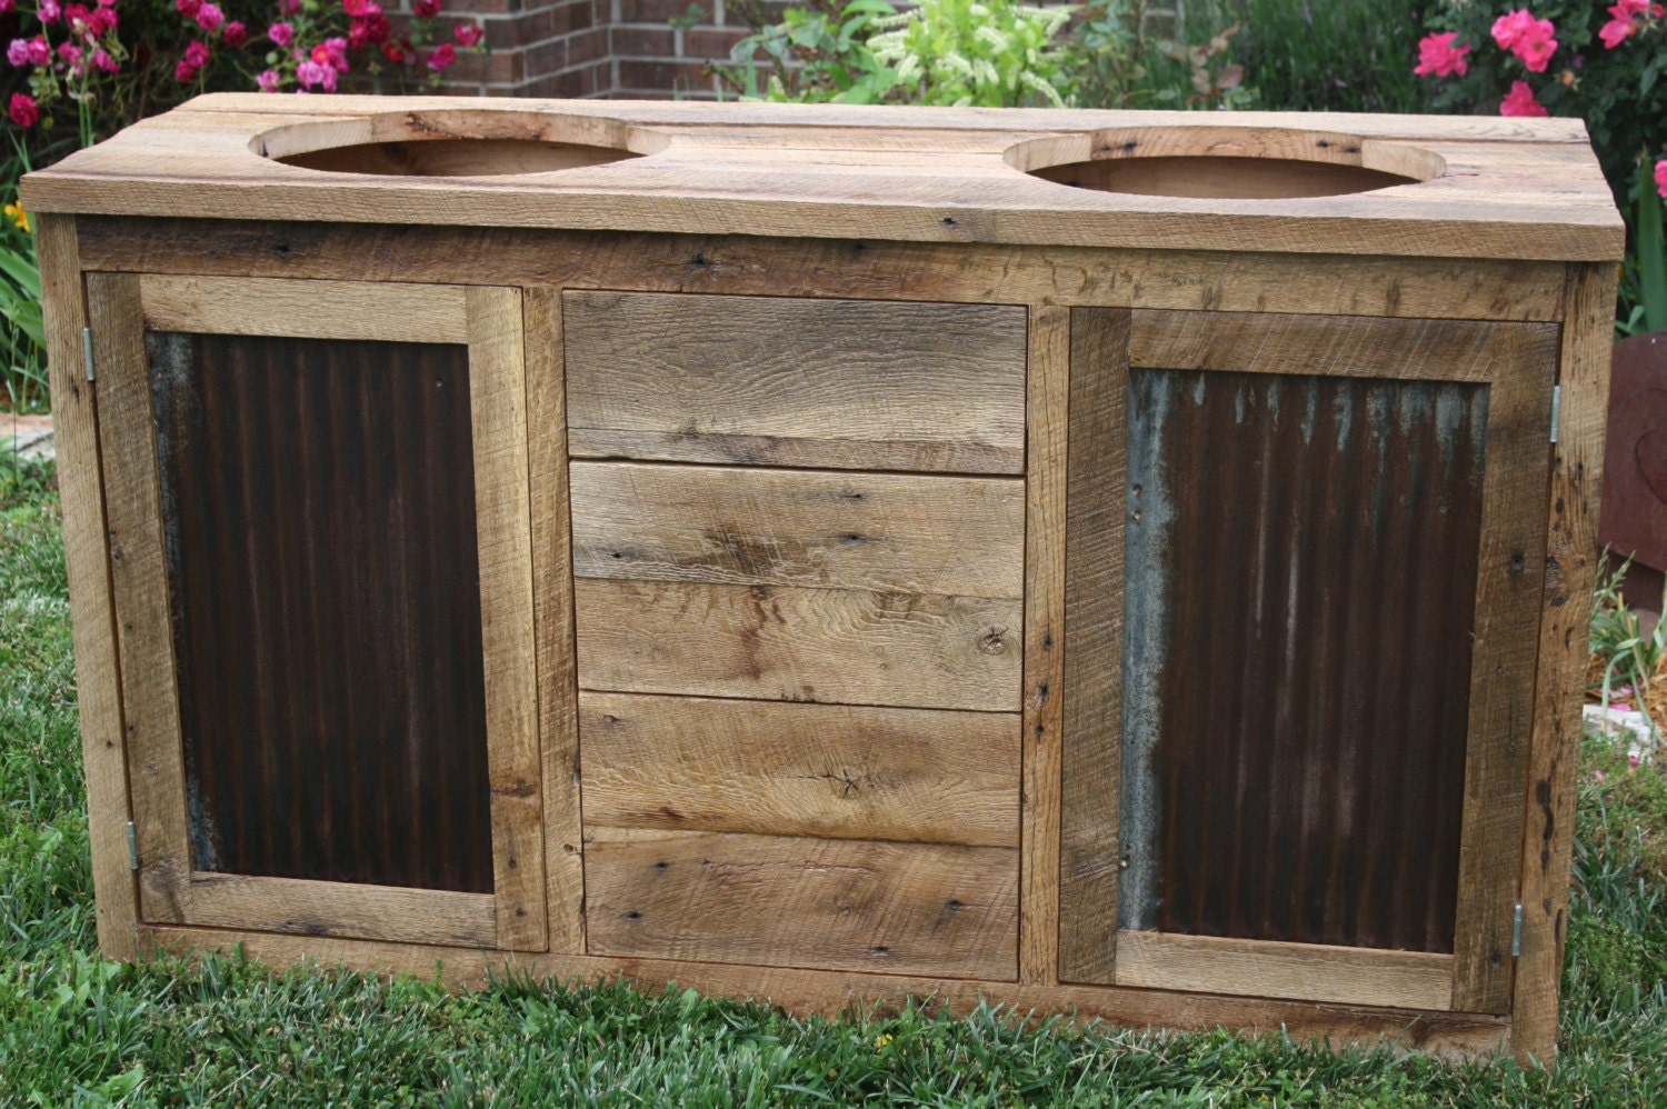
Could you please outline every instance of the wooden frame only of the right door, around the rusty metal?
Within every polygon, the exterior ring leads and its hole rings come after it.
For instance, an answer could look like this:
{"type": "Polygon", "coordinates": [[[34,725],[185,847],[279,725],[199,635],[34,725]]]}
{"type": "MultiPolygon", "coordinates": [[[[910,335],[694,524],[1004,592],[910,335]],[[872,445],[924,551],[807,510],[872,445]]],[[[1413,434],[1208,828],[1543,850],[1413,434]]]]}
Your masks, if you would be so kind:
{"type": "Polygon", "coordinates": [[[1422,1011],[1510,1009],[1559,329],[1074,309],[1060,981],[1422,1011]],[[1124,485],[1130,367],[1490,387],[1454,954],[1119,932],[1124,485]]]}

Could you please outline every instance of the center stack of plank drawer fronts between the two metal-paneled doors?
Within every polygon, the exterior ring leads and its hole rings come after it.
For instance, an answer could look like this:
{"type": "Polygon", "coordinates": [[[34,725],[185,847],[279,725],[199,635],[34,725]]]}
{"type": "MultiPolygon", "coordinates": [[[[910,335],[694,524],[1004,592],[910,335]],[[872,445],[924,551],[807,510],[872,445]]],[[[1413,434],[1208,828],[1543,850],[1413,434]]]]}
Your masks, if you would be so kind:
{"type": "Polygon", "coordinates": [[[1025,309],[562,319],[590,954],[1017,977],[1025,309]]]}

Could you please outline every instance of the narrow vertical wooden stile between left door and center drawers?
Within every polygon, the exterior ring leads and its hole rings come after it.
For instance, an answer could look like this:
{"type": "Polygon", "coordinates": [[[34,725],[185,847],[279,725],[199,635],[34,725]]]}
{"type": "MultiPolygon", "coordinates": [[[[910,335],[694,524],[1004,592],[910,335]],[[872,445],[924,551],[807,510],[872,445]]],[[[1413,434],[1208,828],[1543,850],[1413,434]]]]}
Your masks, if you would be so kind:
{"type": "Polygon", "coordinates": [[[522,292],[527,334],[527,457],[532,482],[533,627],[543,749],[543,864],[550,951],[585,951],[583,825],[578,807],[578,677],[567,505],[567,384],[562,294],[522,292]]]}

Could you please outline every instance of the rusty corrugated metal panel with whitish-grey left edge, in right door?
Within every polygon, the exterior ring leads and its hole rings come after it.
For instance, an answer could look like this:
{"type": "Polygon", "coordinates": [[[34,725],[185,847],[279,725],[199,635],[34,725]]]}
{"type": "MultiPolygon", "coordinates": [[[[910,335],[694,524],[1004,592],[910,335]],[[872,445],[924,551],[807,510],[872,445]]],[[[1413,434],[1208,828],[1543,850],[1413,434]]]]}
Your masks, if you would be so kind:
{"type": "Polygon", "coordinates": [[[1487,399],[1130,372],[1120,927],[1454,949],[1487,399]]]}

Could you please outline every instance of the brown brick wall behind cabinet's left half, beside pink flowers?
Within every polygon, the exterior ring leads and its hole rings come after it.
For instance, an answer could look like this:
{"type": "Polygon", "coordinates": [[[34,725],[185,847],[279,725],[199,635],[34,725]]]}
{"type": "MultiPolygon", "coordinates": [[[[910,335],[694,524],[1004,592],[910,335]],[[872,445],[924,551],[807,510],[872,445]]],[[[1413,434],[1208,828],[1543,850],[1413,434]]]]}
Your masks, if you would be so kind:
{"type": "MultiPolygon", "coordinates": [[[[390,10],[393,5],[387,5],[390,10]]],[[[487,28],[492,53],[463,55],[443,92],[487,97],[702,98],[717,95],[712,62],[748,33],[723,0],[688,27],[690,0],[452,0],[447,15],[487,28]]],[[[408,0],[400,3],[410,10],[408,0]]]]}

